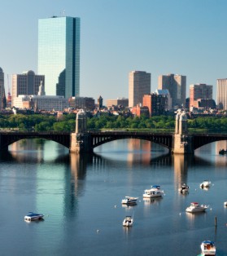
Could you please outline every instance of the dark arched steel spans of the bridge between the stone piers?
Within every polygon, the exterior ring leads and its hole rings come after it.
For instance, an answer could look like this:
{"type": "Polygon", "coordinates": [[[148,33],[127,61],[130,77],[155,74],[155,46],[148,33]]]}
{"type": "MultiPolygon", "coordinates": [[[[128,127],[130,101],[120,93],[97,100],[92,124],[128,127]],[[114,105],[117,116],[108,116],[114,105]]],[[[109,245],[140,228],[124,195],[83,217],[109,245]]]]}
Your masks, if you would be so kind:
{"type": "MultiPolygon", "coordinates": [[[[93,148],[108,143],[116,139],[145,139],[154,143],[158,143],[170,151],[173,145],[174,133],[151,133],[144,131],[124,131],[124,130],[106,130],[106,131],[87,131],[85,134],[78,134],[81,139],[86,135],[89,139],[90,151],[93,148]]],[[[219,140],[227,140],[227,134],[188,134],[191,137],[192,146],[195,149],[202,147],[207,143],[212,143],[219,140]]],[[[70,148],[71,133],[70,132],[34,132],[34,131],[16,131],[16,132],[0,132],[0,150],[7,149],[7,147],[20,139],[49,139],[63,146],[70,148]]],[[[82,142],[82,140],[81,140],[82,142]]],[[[225,148],[226,149],[226,148],[225,148]]]]}

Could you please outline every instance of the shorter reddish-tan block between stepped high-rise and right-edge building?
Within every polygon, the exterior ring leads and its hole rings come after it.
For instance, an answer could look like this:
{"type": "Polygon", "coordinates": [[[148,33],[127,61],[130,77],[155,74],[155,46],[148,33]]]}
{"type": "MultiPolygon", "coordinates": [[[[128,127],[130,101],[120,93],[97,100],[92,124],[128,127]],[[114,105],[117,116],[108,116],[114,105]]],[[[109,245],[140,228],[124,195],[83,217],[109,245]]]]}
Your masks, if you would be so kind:
{"type": "Polygon", "coordinates": [[[213,86],[207,84],[190,85],[190,107],[199,108],[198,99],[212,99],[213,86]]]}

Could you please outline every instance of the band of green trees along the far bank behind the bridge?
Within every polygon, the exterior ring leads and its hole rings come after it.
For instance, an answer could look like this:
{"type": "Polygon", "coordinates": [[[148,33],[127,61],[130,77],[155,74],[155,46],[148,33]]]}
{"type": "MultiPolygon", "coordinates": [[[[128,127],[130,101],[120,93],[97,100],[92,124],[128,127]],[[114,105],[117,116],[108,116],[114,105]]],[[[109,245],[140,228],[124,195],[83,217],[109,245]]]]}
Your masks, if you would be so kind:
{"type": "MultiPolygon", "coordinates": [[[[74,131],[76,114],[63,115],[61,118],[47,115],[10,115],[0,116],[0,129],[19,129],[35,131],[74,131]]],[[[174,130],[175,117],[88,117],[88,130],[174,130]]],[[[197,117],[188,120],[190,130],[227,130],[227,117],[197,117]]]]}

